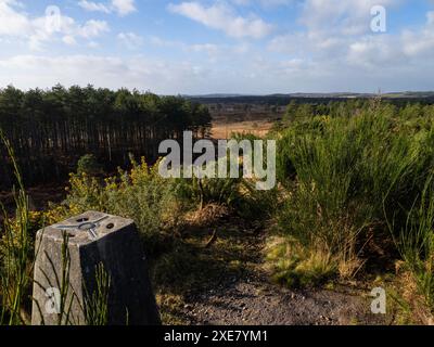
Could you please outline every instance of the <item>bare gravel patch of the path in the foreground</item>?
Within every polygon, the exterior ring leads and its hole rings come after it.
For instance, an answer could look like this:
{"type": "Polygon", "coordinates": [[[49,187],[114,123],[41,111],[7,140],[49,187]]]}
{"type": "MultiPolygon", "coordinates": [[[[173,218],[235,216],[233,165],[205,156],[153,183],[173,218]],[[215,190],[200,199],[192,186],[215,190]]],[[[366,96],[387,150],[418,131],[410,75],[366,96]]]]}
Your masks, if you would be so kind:
{"type": "Polygon", "coordinates": [[[347,325],[381,324],[362,292],[290,291],[266,279],[232,279],[190,298],[183,313],[199,325],[347,325]]]}

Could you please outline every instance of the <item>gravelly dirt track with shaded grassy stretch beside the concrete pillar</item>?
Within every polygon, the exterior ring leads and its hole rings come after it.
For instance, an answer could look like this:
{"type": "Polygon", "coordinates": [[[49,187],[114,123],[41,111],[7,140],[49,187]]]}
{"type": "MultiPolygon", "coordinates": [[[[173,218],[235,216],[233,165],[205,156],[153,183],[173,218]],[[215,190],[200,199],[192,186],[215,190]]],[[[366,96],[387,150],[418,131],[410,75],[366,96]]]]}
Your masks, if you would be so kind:
{"type": "Polygon", "coordinates": [[[155,269],[169,273],[164,281],[156,280],[164,323],[372,325],[392,321],[371,313],[371,288],[361,282],[334,283],[329,290],[290,290],[273,283],[264,270],[266,239],[264,229],[232,217],[217,227],[190,229],[183,246],[165,259],[166,265],[180,266],[155,269]],[[213,230],[217,239],[206,247],[213,230]]]}

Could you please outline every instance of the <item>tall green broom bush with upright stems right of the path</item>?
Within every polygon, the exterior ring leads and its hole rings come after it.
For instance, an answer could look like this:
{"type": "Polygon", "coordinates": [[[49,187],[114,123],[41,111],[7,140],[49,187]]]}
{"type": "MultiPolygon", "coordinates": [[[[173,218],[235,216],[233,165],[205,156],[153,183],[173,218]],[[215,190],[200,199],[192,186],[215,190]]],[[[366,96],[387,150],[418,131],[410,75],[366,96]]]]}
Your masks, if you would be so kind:
{"type": "MultiPolygon", "coordinates": [[[[296,262],[307,277],[354,275],[372,260],[360,256],[370,241],[391,240],[387,220],[394,220],[394,237],[406,224],[434,168],[434,125],[392,111],[374,102],[352,115],[295,117],[278,133],[278,175],[285,190],[278,229],[305,249],[304,259],[318,253],[332,264],[296,262]]],[[[388,257],[393,262],[394,255],[388,257]]],[[[289,278],[293,265],[288,264],[289,278]]]]}

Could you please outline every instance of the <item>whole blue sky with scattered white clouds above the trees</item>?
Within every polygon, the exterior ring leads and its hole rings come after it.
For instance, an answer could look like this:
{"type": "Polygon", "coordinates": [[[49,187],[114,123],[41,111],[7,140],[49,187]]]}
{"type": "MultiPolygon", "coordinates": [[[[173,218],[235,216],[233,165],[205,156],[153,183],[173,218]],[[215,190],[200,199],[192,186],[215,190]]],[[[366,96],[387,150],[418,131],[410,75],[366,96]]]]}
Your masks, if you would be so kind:
{"type": "Polygon", "coordinates": [[[434,0],[0,0],[0,88],[434,90],[434,0]]]}

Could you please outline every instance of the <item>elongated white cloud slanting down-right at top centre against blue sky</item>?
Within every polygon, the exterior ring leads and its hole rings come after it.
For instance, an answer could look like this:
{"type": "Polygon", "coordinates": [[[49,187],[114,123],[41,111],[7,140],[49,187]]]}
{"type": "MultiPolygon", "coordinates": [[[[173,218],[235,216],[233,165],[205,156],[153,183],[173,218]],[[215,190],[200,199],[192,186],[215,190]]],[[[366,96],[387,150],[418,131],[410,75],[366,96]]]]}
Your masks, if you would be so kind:
{"type": "Polygon", "coordinates": [[[225,31],[235,38],[264,38],[272,30],[272,26],[257,16],[243,17],[237,15],[225,3],[217,2],[212,7],[204,7],[199,2],[182,2],[169,4],[169,11],[181,14],[209,28],[225,31]]]}

